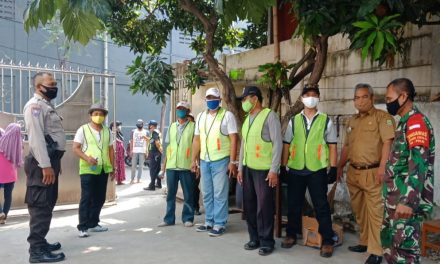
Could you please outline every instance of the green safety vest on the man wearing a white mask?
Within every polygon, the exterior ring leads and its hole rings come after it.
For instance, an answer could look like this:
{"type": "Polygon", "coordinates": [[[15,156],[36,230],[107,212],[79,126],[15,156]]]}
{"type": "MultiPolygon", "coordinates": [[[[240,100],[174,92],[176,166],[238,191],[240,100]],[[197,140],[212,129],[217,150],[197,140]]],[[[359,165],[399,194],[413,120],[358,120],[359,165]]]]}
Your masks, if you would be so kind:
{"type": "Polygon", "coordinates": [[[292,119],[292,123],[295,134],[290,142],[287,166],[294,170],[308,169],[310,171],[327,168],[329,150],[324,137],[327,115],[320,113],[315,117],[308,135],[302,114],[297,114],[292,119]]]}

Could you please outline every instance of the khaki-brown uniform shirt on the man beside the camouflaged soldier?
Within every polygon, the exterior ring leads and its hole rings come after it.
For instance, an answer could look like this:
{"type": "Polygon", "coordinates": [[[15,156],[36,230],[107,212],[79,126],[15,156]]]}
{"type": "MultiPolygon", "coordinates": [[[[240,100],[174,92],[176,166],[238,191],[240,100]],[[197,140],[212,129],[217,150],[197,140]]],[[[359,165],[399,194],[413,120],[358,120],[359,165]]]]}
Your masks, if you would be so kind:
{"type": "Polygon", "coordinates": [[[354,115],[348,121],[344,143],[350,163],[358,166],[380,163],[383,142],[394,138],[395,127],[391,115],[374,107],[364,116],[354,115]]]}

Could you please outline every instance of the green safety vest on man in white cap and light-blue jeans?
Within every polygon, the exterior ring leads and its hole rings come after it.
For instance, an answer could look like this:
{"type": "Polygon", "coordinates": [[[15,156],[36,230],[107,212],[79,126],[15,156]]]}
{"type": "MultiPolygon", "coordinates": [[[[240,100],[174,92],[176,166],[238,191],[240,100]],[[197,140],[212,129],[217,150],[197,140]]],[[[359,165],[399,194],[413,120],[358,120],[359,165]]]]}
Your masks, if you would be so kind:
{"type": "Polygon", "coordinates": [[[230,155],[231,143],[228,135],[221,132],[221,124],[225,117],[226,110],[220,108],[210,126],[207,124],[208,111],[203,112],[199,118],[200,131],[200,159],[205,160],[208,156],[209,161],[216,161],[230,155]]]}

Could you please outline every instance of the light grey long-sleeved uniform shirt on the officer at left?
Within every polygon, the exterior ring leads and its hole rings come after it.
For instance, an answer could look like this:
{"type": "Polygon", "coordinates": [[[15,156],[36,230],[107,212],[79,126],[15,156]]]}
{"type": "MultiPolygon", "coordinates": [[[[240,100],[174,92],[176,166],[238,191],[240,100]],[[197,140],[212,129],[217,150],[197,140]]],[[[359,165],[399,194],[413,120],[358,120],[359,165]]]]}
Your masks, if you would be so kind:
{"type": "Polygon", "coordinates": [[[30,153],[38,161],[40,168],[51,167],[44,137],[50,135],[53,141],[58,143],[57,150],[65,151],[66,135],[62,117],[55,111],[55,107],[39,94],[34,94],[24,106],[23,112],[30,153]]]}

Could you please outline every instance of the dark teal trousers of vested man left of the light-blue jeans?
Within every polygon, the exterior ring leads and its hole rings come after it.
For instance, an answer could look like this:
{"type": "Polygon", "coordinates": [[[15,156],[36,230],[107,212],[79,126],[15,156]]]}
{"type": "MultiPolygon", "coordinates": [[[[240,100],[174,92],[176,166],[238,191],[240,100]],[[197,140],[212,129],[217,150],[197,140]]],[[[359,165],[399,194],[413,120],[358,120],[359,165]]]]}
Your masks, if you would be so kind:
{"type": "Polygon", "coordinates": [[[167,224],[176,222],[179,181],[183,191],[182,222],[194,222],[194,175],[189,170],[167,170],[167,212],[163,219],[167,224]]]}

